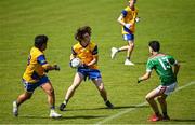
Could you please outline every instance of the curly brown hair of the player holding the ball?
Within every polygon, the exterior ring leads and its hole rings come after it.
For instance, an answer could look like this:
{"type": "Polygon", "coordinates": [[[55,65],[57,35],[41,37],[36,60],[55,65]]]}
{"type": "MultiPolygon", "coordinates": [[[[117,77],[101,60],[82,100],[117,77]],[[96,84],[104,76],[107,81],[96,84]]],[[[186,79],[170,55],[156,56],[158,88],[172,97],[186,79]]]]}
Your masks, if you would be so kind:
{"type": "Polygon", "coordinates": [[[78,28],[77,32],[75,33],[75,39],[81,42],[84,33],[89,33],[89,36],[91,36],[91,27],[83,26],[83,27],[78,28]]]}

